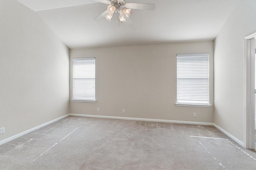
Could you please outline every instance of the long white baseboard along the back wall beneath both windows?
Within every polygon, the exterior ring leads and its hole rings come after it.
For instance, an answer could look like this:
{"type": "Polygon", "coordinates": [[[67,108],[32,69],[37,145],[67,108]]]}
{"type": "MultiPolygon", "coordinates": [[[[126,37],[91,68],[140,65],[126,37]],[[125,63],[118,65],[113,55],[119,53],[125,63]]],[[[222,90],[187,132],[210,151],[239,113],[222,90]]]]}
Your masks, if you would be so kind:
{"type": "Polygon", "coordinates": [[[116,117],[116,116],[100,116],[100,115],[83,115],[83,114],[69,114],[70,116],[82,116],[82,117],[96,117],[106,119],[124,119],[124,120],[137,120],[137,121],[155,121],[155,122],[166,122],[166,123],[180,123],[190,125],[211,125],[213,123],[207,122],[195,122],[195,121],[177,121],[177,120],[163,120],[163,119],[144,119],[144,118],[133,118],[133,117],[116,117]]]}

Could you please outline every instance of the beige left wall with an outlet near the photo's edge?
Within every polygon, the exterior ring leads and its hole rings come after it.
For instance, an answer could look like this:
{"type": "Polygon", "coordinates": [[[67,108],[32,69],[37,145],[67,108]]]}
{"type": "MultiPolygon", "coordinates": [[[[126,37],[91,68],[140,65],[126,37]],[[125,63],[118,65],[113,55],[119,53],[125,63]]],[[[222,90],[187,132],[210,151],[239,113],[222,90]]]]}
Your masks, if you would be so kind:
{"type": "Polygon", "coordinates": [[[69,49],[36,12],[0,0],[0,141],[69,113],[69,49]]]}

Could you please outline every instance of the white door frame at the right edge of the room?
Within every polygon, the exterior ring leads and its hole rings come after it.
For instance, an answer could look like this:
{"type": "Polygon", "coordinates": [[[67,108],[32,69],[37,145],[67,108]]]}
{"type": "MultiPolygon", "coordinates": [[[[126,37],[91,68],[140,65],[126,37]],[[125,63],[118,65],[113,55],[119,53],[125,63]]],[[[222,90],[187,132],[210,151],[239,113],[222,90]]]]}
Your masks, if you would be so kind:
{"type": "Polygon", "coordinates": [[[255,40],[244,37],[244,147],[255,149],[255,40]],[[254,52],[253,52],[254,51],[254,52]]]}

